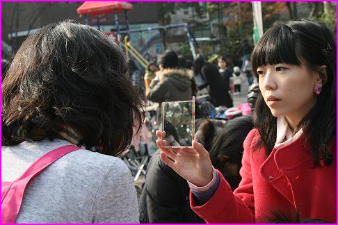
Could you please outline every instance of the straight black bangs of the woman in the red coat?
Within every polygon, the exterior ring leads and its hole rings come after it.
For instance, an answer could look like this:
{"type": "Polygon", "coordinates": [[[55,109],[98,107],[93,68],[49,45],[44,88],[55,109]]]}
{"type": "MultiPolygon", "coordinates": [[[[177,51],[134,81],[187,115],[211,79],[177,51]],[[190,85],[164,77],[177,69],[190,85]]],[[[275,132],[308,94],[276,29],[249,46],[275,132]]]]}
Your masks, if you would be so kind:
{"type": "Polygon", "coordinates": [[[252,71],[255,76],[257,68],[262,65],[300,65],[296,54],[296,40],[296,34],[286,25],[274,26],[266,31],[252,51],[252,71]]]}

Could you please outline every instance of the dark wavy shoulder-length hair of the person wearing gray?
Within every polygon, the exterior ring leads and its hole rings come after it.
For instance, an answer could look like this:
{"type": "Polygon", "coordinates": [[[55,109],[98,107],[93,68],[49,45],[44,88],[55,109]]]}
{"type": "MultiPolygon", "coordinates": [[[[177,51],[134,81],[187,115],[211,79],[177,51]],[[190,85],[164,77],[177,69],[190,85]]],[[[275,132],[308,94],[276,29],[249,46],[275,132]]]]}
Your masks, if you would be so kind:
{"type": "Polygon", "coordinates": [[[117,156],[129,146],[134,124],[139,129],[143,122],[118,45],[71,21],[30,35],[1,88],[3,145],[54,140],[69,126],[86,147],[117,156]]]}

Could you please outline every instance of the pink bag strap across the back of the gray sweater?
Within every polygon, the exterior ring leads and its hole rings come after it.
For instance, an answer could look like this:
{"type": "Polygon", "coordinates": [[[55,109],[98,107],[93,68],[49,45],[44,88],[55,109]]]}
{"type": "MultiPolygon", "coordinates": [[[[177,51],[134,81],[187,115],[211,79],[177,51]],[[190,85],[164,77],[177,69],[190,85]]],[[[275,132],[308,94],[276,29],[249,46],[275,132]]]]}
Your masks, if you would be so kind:
{"type": "Polygon", "coordinates": [[[19,176],[6,190],[1,198],[1,223],[14,224],[19,213],[24,190],[27,183],[34,176],[40,174],[46,167],[54,163],[56,160],[65,156],[67,153],[81,149],[75,145],[65,145],[63,147],[49,151],[45,155],[36,160],[27,170],[19,176]]]}

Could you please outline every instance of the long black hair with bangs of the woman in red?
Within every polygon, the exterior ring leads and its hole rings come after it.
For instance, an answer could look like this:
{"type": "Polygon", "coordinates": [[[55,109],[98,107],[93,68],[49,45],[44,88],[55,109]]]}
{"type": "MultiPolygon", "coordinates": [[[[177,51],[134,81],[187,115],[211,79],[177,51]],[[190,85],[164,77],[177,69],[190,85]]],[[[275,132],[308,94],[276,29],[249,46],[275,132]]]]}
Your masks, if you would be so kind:
{"type": "MultiPolygon", "coordinates": [[[[303,128],[305,140],[312,147],[314,165],[319,165],[319,151],[323,151],[325,165],[332,163],[327,151],[336,135],[336,44],[325,24],[308,20],[291,21],[270,28],[261,37],[252,52],[252,70],[257,79],[257,67],[287,63],[305,65],[323,78],[323,89],[315,106],[298,124],[303,128]],[[326,65],[326,75],[320,67],[326,65]],[[321,149],[321,150],[320,150],[321,149]]],[[[273,117],[259,91],[253,113],[260,140],[269,155],[277,135],[277,118],[273,117]]]]}

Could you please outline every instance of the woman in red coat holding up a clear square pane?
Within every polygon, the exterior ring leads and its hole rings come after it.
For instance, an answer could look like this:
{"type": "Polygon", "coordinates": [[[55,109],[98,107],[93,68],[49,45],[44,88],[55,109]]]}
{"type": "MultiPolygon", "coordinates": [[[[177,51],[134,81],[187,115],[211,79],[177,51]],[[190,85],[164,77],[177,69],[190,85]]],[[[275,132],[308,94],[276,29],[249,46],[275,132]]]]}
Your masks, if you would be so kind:
{"type": "Polygon", "coordinates": [[[234,192],[196,140],[185,149],[157,140],[161,159],[188,181],[195,213],[209,223],[273,222],[281,214],[336,222],[336,67],[322,23],[288,22],[262,36],[252,53],[256,128],[234,192]]]}

